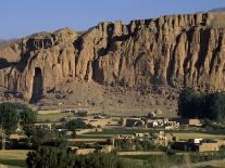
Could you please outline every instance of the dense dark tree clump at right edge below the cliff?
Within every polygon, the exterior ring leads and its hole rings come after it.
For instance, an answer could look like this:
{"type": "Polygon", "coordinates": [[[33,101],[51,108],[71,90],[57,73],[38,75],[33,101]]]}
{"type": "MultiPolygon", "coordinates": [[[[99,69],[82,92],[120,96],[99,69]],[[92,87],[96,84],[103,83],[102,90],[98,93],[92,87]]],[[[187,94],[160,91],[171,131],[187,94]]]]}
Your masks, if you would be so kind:
{"type": "Polygon", "coordinates": [[[182,91],[178,99],[178,115],[184,118],[202,118],[225,121],[225,93],[198,93],[192,88],[182,91]]]}

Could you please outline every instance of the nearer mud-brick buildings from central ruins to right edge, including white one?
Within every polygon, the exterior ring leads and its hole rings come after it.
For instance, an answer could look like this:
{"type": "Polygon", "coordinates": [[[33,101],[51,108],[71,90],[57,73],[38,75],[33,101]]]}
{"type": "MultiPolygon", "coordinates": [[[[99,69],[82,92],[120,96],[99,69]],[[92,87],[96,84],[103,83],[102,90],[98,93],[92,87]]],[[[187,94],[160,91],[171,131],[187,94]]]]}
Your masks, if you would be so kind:
{"type": "Polygon", "coordinates": [[[212,152],[218,151],[225,145],[225,140],[214,140],[214,139],[188,139],[187,141],[179,141],[173,133],[165,133],[164,131],[159,131],[155,133],[134,133],[133,135],[116,135],[111,138],[111,145],[116,148],[118,142],[123,142],[129,145],[128,150],[138,150],[138,145],[143,144],[143,142],[150,143],[151,146],[167,147],[168,145],[173,150],[178,151],[191,151],[191,152],[212,152]]]}

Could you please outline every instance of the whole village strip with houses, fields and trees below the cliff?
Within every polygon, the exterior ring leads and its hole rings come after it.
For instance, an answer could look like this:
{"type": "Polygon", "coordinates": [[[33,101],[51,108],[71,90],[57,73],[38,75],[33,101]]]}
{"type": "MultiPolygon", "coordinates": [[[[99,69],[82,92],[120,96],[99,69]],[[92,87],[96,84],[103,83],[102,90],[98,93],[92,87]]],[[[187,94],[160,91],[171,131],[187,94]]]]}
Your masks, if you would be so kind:
{"type": "MultiPolygon", "coordinates": [[[[216,120],[184,114],[165,117],[160,109],[124,115],[60,105],[32,108],[7,103],[2,104],[2,113],[9,113],[5,108],[11,106],[20,118],[12,125],[16,125],[13,132],[5,139],[2,135],[1,157],[5,152],[11,157],[14,152],[23,154],[23,166],[34,148],[46,148],[47,153],[50,148],[63,150],[71,157],[80,158],[113,155],[118,160],[134,159],[141,164],[150,164],[154,158],[164,158],[164,164],[173,165],[183,164],[186,157],[192,164],[225,158],[224,126],[216,120]]],[[[0,163],[7,159],[3,157],[0,163]]]]}

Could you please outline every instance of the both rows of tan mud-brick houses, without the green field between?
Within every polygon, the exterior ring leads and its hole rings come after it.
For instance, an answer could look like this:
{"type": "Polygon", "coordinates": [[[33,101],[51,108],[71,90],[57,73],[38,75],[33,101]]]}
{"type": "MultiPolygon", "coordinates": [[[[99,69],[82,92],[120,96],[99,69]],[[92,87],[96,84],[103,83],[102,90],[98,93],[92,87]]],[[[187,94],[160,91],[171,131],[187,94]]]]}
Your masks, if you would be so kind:
{"type": "MultiPolygon", "coordinates": [[[[160,130],[173,130],[178,129],[180,126],[193,126],[201,127],[202,121],[199,119],[184,119],[184,118],[166,118],[166,117],[157,117],[154,114],[149,114],[147,116],[140,117],[109,117],[104,114],[92,114],[88,115],[85,111],[65,111],[63,113],[75,113],[82,116],[83,121],[86,125],[92,126],[89,129],[77,129],[76,134],[84,134],[87,132],[101,132],[102,128],[145,128],[159,130],[154,133],[134,133],[132,135],[118,134],[116,137],[110,138],[105,141],[99,148],[87,147],[79,148],[77,146],[71,147],[72,153],[76,154],[88,154],[96,151],[109,153],[114,148],[122,150],[139,150],[146,147],[146,145],[151,146],[171,146],[174,150],[182,151],[193,151],[193,152],[207,152],[207,151],[218,151],[221,146],[225,145],[225,140],[212,140],[212,139],[189,139],[188,141],[179,141],[172,133],[166,133],[160,130]]],[[[37,127],[52,129],[52,126],[57,126],[59,131],[65,131],[70,135],[73,131],[67,131],[64,128],[65,122],[50,124],[50,122],[40,122],[36,124],[37,127]],[[62,127],[62,128],[61,128],[62,127]]],[[[149,150],[149,148],[148,148],[149,150]]]]}

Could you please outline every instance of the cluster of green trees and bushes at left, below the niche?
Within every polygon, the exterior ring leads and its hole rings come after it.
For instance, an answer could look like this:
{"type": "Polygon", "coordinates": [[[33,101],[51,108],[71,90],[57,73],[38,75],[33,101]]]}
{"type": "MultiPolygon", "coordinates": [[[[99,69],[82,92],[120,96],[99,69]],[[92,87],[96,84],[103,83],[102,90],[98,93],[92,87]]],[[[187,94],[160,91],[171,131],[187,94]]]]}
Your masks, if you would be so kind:
{"type": "MultiPolygon", "coordinates": [[[[28,106],[23,104],[14,103],[2,103],[0,104],[0,128],[3,129],[5,135],[13,133],[18,127],[23,129],[25,134],[28,137],[27,144],[37,148],[40,145],[53,145],[60,146],[65,141],[59,139],[59,134],[48,129],[40,129],[35,127],[37,121],[36,112],[30,109],[28,106]]],[[[5,135],[3,134],[4,139],[5,135]]],[[[2,135],[2,134],[1,134],[2,135]]],[[[3,141],[2,141],[3,146],[3,141]]]]}

